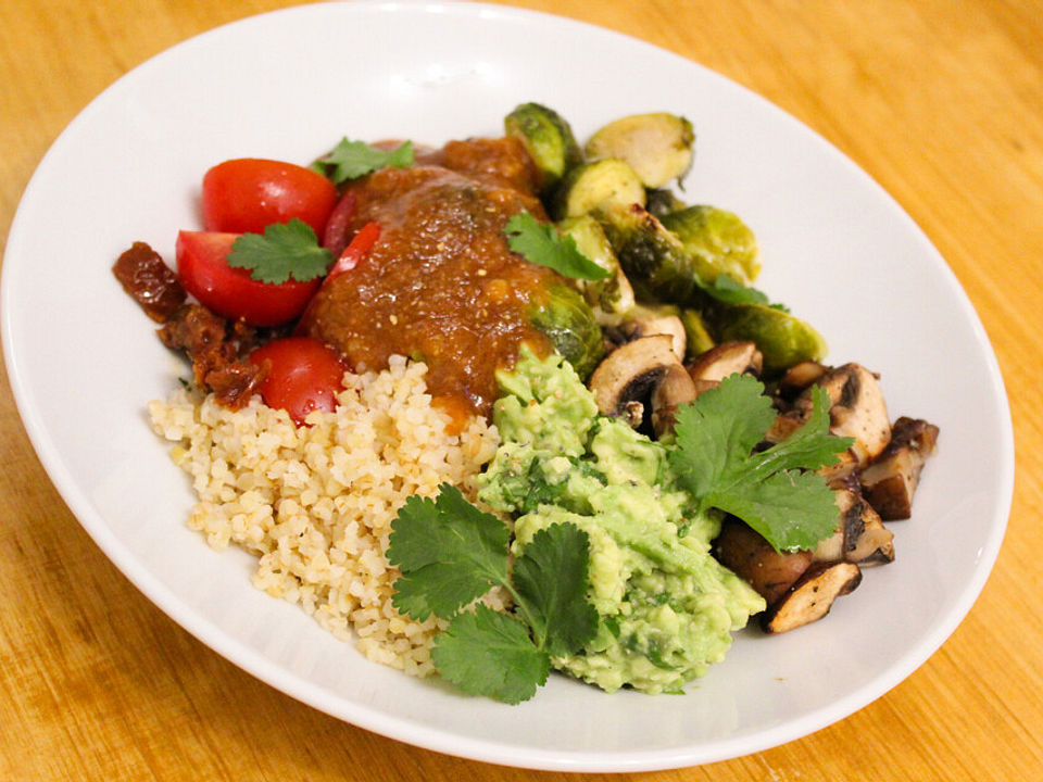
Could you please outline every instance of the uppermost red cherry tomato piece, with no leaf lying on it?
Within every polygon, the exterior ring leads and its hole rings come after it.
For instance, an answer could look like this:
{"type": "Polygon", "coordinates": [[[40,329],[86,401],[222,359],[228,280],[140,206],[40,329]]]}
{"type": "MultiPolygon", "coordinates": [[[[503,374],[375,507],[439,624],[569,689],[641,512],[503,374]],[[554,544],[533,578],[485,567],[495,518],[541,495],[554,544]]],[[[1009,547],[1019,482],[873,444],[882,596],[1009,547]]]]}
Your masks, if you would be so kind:
{"type": "Polygon", "coordinates": [[[210,231],[263,234],[273,223],[298,217],[323,236],[337,203],[337,188],[311,168],[240,157],[203,176],[203,226],[210,231]]]}

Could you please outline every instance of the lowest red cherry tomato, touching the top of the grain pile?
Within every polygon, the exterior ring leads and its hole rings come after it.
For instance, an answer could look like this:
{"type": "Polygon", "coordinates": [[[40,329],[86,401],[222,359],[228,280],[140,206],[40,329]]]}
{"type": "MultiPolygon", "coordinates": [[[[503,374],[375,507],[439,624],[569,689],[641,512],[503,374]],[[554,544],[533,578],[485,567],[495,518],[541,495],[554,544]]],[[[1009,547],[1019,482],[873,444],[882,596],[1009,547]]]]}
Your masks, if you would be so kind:
{"type": "Polygon", "coordinates": [[[264,403],[285,409],[298,426],[312,411],[336,408],[348,366],[332,348],[312,337],[286,337],[257,348],[250,361],[268,363],[260,389],[264,403]]]}

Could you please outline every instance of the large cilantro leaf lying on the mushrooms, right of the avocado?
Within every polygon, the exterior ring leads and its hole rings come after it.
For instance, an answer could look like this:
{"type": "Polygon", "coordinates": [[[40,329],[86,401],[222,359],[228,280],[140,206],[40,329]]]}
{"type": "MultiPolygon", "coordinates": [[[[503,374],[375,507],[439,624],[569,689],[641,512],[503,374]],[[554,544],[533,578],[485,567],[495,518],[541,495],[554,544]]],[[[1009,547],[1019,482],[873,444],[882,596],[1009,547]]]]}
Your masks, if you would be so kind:
{"type": "Polygon", "coordinates": [[[775,421],[756,379],[732,375],[677,413],[670,465],[701,510],[738,516],[776,551],[814,548],[837,530],[837,505],[825,478],[851,438],[829,433],[829,396],[813,390],[807,422],[766,451],[754,452],[775,421]]]}

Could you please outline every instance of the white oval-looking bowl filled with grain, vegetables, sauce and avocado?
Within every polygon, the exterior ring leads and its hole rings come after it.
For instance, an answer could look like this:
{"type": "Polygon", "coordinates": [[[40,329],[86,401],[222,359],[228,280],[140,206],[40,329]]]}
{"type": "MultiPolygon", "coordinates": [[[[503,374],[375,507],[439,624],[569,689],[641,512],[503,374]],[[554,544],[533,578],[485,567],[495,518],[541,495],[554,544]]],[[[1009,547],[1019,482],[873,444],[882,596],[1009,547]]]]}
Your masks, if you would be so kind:
{"type": "Polygon", "coordinates": [[[2,283],[26,429],[127,578],[440,752],[804,735],[927,659],[1002,541],[1003,384],[927,238],[764,100],[575,22],[186,41],[48,152],[2,283]]]}

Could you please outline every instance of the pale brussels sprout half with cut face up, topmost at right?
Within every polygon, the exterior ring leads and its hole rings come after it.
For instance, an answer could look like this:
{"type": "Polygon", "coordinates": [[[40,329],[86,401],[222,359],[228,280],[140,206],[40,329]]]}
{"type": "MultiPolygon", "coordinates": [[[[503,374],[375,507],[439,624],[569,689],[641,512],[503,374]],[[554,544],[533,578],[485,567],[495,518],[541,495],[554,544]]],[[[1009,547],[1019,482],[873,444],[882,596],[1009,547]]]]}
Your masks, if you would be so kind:
{"type": "Polygon", "coordinates": [[[632,114],[605,125],[591,136],[583,151],[589,160],[626,161],[645,187],[661,188],[688,172],[694,141],[688,119],[656,112],[632,114]]]}

